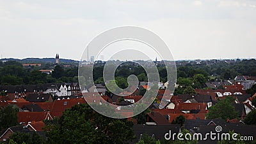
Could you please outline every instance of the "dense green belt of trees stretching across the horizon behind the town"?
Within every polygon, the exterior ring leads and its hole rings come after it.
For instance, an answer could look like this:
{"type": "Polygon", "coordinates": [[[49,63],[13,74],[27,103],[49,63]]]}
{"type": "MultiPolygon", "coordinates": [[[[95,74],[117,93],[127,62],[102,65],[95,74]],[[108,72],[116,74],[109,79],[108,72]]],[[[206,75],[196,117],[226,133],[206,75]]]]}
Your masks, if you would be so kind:
{"type": "MultiPolygon", "coordinates": [[[[103,64],[93,67],[93,80],[95,83],[104,83],[103,64]]],[[[157,65],[160,81],[166,82],[166,68],[157,65]]],[[[78,67],[72,66],[64,68],[62,65],[42,64],[41,67],[31,66],[22,67],[22,64],[15,61],[0,62],[0,84],[1,85],[19,85],[19,84],[38,84],[52,82],[77,82],[78,67]],[[38,71],[39,69],[53,69],[51,75],[46,75],[38,71]]],[[[136,75],[140,82],[147,82],[147,73],[140,65],[134,62],[124,62],[118,66],[115,71],[116,82],[121,88],[127,87],[127,77],[136,75]]],[[[193,93],[193,89],[204,88],[207,81],[220,81],[234,79],[237,75],[256,76],[256,60],[237,60],[236,62],[227,63],[225,61],[208,62],[202,64],[193,64],[184,62],[177,64],[177,83],[182,85],[177,89],[177,94],[193,93]]],[[[86,78],[85,78],[86,80],[86,78]]]]}

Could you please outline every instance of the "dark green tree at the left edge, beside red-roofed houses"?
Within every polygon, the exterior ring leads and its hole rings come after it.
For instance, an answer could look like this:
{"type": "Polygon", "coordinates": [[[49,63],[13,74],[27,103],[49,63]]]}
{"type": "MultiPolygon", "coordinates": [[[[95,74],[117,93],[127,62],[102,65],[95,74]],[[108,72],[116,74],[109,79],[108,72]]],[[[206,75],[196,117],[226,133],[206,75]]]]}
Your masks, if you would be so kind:
{"type": "Polygon", "coordinates": [[[0,129],[3,131],[11,126],[18,124],[17,113],[19,108],[15,105],[8,104],[7,106],[0,108],[0,129]]]}

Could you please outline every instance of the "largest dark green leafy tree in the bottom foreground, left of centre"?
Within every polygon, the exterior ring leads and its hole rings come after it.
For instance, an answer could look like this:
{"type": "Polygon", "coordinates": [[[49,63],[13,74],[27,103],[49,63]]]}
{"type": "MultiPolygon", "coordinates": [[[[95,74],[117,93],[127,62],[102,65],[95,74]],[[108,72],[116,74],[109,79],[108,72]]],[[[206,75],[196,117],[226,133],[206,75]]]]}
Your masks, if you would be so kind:
{"type": "Polygon", "coordinates": [[[47,143],[124,143],[134,138],[132,122],[105,117],[88,104],[65,110],[59,120],[47,122],[45,129],[47,143]]]}

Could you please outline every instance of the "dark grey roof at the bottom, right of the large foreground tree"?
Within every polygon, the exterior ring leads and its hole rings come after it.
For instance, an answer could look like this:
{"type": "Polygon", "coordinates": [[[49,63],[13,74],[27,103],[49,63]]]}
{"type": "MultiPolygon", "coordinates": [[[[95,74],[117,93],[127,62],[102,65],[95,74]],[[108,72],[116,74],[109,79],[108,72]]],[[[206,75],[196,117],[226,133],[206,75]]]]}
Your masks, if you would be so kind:
{"type": "Polygon", "coordinates": [[[142,125],[137,124],[133,126],[134,134],[136,138],[132,140],[132,143],[137,143],[144,134],[150,137],[156,138],[156,140],[164,140],[164,135],[172,131],[172,133],[181,133],[179,124],[172,125],[142,125]]]}

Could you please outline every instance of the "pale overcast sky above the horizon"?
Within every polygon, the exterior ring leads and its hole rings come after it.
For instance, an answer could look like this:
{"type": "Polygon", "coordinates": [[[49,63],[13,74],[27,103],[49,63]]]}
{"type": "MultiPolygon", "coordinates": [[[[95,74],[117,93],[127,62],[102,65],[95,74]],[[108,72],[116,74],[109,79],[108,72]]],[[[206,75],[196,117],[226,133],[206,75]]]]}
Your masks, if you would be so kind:
{"type": "Polygon", "coordinates": [[[108,29],[135,25],[159,35],[175,60],[256,57],[256,1],[2,1],[3,58],[79,60],[108,29]]]}

